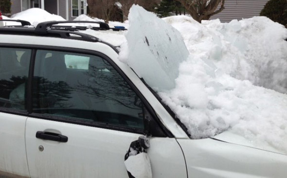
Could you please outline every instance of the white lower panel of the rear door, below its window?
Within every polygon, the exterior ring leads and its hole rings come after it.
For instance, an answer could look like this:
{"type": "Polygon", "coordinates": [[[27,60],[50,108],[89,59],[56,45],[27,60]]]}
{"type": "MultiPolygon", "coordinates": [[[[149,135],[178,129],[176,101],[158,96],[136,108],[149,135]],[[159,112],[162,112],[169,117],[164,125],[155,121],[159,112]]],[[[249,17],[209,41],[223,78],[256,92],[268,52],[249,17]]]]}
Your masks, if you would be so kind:
{"type": "Polygon", "coordinates": [[[26,119],[0,112],[0,171],[30,177],[25,151],[26,119]]]}

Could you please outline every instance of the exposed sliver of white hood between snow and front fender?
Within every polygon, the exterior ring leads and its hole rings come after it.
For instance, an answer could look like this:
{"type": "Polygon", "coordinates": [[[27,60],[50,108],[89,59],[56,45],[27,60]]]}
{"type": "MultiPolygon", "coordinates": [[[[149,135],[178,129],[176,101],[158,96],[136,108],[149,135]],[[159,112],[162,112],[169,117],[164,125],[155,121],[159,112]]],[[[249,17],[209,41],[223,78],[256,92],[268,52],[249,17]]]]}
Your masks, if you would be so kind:
{"type": "Polygon", "coordinates": [[[254,142],[251,142],[250,140],[246,139],[245,137],[234,134],[231,131],[222,132],[221,134],[215,135],[214,137],[211,137],[211,138],[219,140],[219,141],[223,141],[223,142],[229,142],[229,143],[248,146],[248,147],[252,147],[252,148],[256,148],[256,149],[260,149],[260,150],[265,150],[265,151],[269,151],[269,152],[273,152],[273,153],[287,155],[286,152],[284,152],[282,150],[280,151],[280,150],[268,145],[267,143],[266,144],[263,144],[263,143],[262,144],[259,144],[259,143],[255,144],[254,142]]]}

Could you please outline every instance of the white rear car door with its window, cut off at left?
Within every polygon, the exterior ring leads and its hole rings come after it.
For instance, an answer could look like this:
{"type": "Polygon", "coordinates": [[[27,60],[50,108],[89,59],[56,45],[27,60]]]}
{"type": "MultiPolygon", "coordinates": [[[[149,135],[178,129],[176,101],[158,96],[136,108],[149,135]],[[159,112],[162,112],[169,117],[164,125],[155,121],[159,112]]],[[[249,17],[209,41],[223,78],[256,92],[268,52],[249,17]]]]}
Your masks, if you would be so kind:
{"type": "Polygon", "coordinates": [[[31,50],[0,47],[0,178],[30,177],[25,151],[31,50]]]}

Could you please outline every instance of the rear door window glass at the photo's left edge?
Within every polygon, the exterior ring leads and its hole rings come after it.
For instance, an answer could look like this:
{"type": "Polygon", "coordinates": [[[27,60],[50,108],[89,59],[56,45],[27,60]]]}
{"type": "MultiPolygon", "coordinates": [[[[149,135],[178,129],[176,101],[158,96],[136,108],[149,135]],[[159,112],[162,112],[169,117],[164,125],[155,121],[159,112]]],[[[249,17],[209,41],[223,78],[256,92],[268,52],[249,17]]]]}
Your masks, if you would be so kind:
{"type": "Polygon", "coordinates": [[[26,108],[31,50],[0,47],[0,107],[26,108]]]}

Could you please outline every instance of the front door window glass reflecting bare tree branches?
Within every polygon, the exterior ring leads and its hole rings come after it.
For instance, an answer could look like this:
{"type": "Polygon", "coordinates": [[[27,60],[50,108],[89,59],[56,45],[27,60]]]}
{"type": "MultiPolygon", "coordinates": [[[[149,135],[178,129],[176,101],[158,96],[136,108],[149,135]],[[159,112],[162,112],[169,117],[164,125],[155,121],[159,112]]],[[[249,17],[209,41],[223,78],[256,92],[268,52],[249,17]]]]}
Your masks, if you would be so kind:
{"type": "Polygon", "coordinates": [[[105,59],[95,55],[38,50],[33,112],[143,128],[142,101],[105,59]]]}

